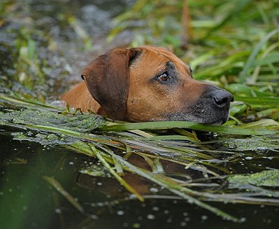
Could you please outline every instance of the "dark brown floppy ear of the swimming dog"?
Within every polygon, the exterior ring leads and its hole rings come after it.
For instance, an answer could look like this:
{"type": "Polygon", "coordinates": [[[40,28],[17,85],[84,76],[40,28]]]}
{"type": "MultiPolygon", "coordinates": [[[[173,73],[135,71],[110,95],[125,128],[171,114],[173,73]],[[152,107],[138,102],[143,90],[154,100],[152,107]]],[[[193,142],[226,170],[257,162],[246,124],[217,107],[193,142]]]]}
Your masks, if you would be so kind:
{"type": "Polygon", "coordinates": [[[93,60],[82,78],[94,99],[101,105],[98,113],[125,120],[129,92],[129,64],[138,51],[115,48],[93,60]]]}

